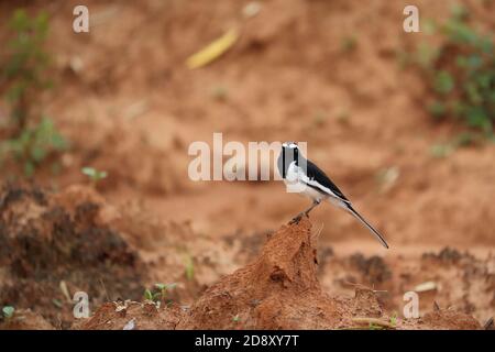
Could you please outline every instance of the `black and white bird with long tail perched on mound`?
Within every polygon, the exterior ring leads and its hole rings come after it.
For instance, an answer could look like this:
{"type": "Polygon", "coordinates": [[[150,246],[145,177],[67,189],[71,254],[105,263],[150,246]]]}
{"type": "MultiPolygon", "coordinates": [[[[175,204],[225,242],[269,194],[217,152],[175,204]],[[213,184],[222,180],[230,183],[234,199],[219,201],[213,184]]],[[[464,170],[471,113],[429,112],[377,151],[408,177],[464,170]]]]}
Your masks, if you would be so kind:
{"type": "Polygon", "coordinates": [[[351,205],[342,191],[332,183],[332,180],[311,161],[304,157],[298,145],[294,142],[282,144],[282,151],[277,160],[278,173],[280,174],[288,191],[298,193],[312,199],[312,205],[293,219],[298,222],[302,216],[315,209],[322,200],[343,208],[356,218],[365,228],[367,228],[376,239],[388,249],[387,242],[383,235],[376,231],[351,205]]]}

